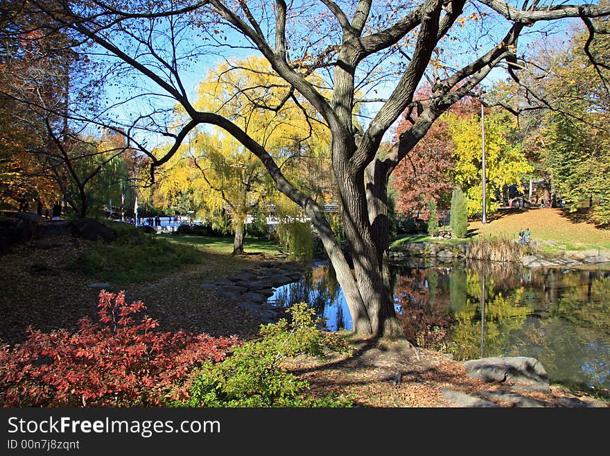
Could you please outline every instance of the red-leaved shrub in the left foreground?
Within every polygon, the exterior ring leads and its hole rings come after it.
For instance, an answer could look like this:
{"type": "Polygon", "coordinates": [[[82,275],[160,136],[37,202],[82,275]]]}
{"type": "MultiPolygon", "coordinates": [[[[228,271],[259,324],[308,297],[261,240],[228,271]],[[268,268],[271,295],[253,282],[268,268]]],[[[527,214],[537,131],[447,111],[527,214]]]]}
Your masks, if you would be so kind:
{"type": "Polygon", "coordinates": [[[30,330],[15,348],[0,348],[3,407],[130,407],[164,405],[189,388],[189,373],[207,360],[222,361],[241,344],[235,336],[159,332],[141,316],[141,301],[123,292],[99,295],[100,323],[80,321],[76,333],[30,330]]]}

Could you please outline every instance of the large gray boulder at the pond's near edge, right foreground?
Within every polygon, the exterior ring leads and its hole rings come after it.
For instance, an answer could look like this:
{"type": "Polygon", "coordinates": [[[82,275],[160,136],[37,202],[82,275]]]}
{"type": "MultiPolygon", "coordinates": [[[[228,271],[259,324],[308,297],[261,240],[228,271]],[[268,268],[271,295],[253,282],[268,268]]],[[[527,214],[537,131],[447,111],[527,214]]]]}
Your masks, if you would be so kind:
{"type": "Polygon", "coordinates": [[[485,382],[542,383],[548,385],[548,375],[541,362],[525,356],[487,357],[464,362],[472,378],[485,382]]]}

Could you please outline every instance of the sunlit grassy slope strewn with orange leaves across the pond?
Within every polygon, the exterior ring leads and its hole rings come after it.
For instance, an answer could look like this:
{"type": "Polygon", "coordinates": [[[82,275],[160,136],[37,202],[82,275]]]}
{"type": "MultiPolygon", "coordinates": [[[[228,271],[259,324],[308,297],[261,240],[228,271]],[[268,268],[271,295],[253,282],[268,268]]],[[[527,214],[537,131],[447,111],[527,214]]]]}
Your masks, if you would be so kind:
{"type": "MultiPolygon", "coordinates": [[[[532,239],[538,242],[555,241],[567,250],[600,248],[610,250],[610,230],[595,228],[593,224],[570,216],[561,209],[530,209],[524,212],[503,215],[489,221],[469,223],[471,236],[492,235],[517,239],[521,228],[530,228],[532,239]]],[[[559,250],[555,246],[544,246],[543,250],[559,250]]]]}

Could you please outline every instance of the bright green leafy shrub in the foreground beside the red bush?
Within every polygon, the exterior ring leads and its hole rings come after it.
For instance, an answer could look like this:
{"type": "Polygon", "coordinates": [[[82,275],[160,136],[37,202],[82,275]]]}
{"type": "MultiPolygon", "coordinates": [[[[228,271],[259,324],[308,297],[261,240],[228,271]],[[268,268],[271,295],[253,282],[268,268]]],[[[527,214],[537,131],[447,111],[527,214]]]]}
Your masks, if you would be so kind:
{"type": "Polygon", "coordinates": [[[189,399],[174,403],[186,407],[349,407],[351,401],[337,396],[307,395],[306,380],[282,369],[287,357],[299,354],[324,357],[324,349],[347,352],[336,335],[315,327],[315,310],[295,304],[290,321],[261,326],[258,341],[235,346],[223,362],[207,362],[191,383],[189,399]]]}

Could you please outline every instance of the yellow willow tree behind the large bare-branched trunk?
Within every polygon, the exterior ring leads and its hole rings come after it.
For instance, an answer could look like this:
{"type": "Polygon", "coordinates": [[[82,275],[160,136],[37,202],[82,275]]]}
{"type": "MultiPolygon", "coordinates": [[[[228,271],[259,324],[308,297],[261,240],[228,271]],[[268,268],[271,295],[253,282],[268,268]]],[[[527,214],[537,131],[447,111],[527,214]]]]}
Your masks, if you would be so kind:
{"type": "MultiPolygon", "coordinates": [[[[197,92],[198,109],[232,119],[270,151],[286,176],[312,189],[323,189],[320,179],[324,151],[329,149],[328,130],[320,119],[315,120],[308,103],[299,100],[290,85],[272,74],[263,58],[217,65],[208,71],[197,92]],[[238,71],[234,71],[236,68],[238,71]],[[261,109],[268,105],[279,108],[261,109]]],[[[247,215],[261,201],[270,199],[275,185],[256,155],[222,130],[210,130],[197,130],[189,144],[182,146],[182,159],[188,164],[176,168],[182,178],[176,175],[171,182],[174,189],[180,183],[188,185],[193,198],[208,213],[228,210],[235,233],[233,254],[241,255],[247,215]],[[186,171],[193,168],[198,171],[197,177],[186,171]],[[185,173],[190,177],[186,178],[185,173]]]]}

